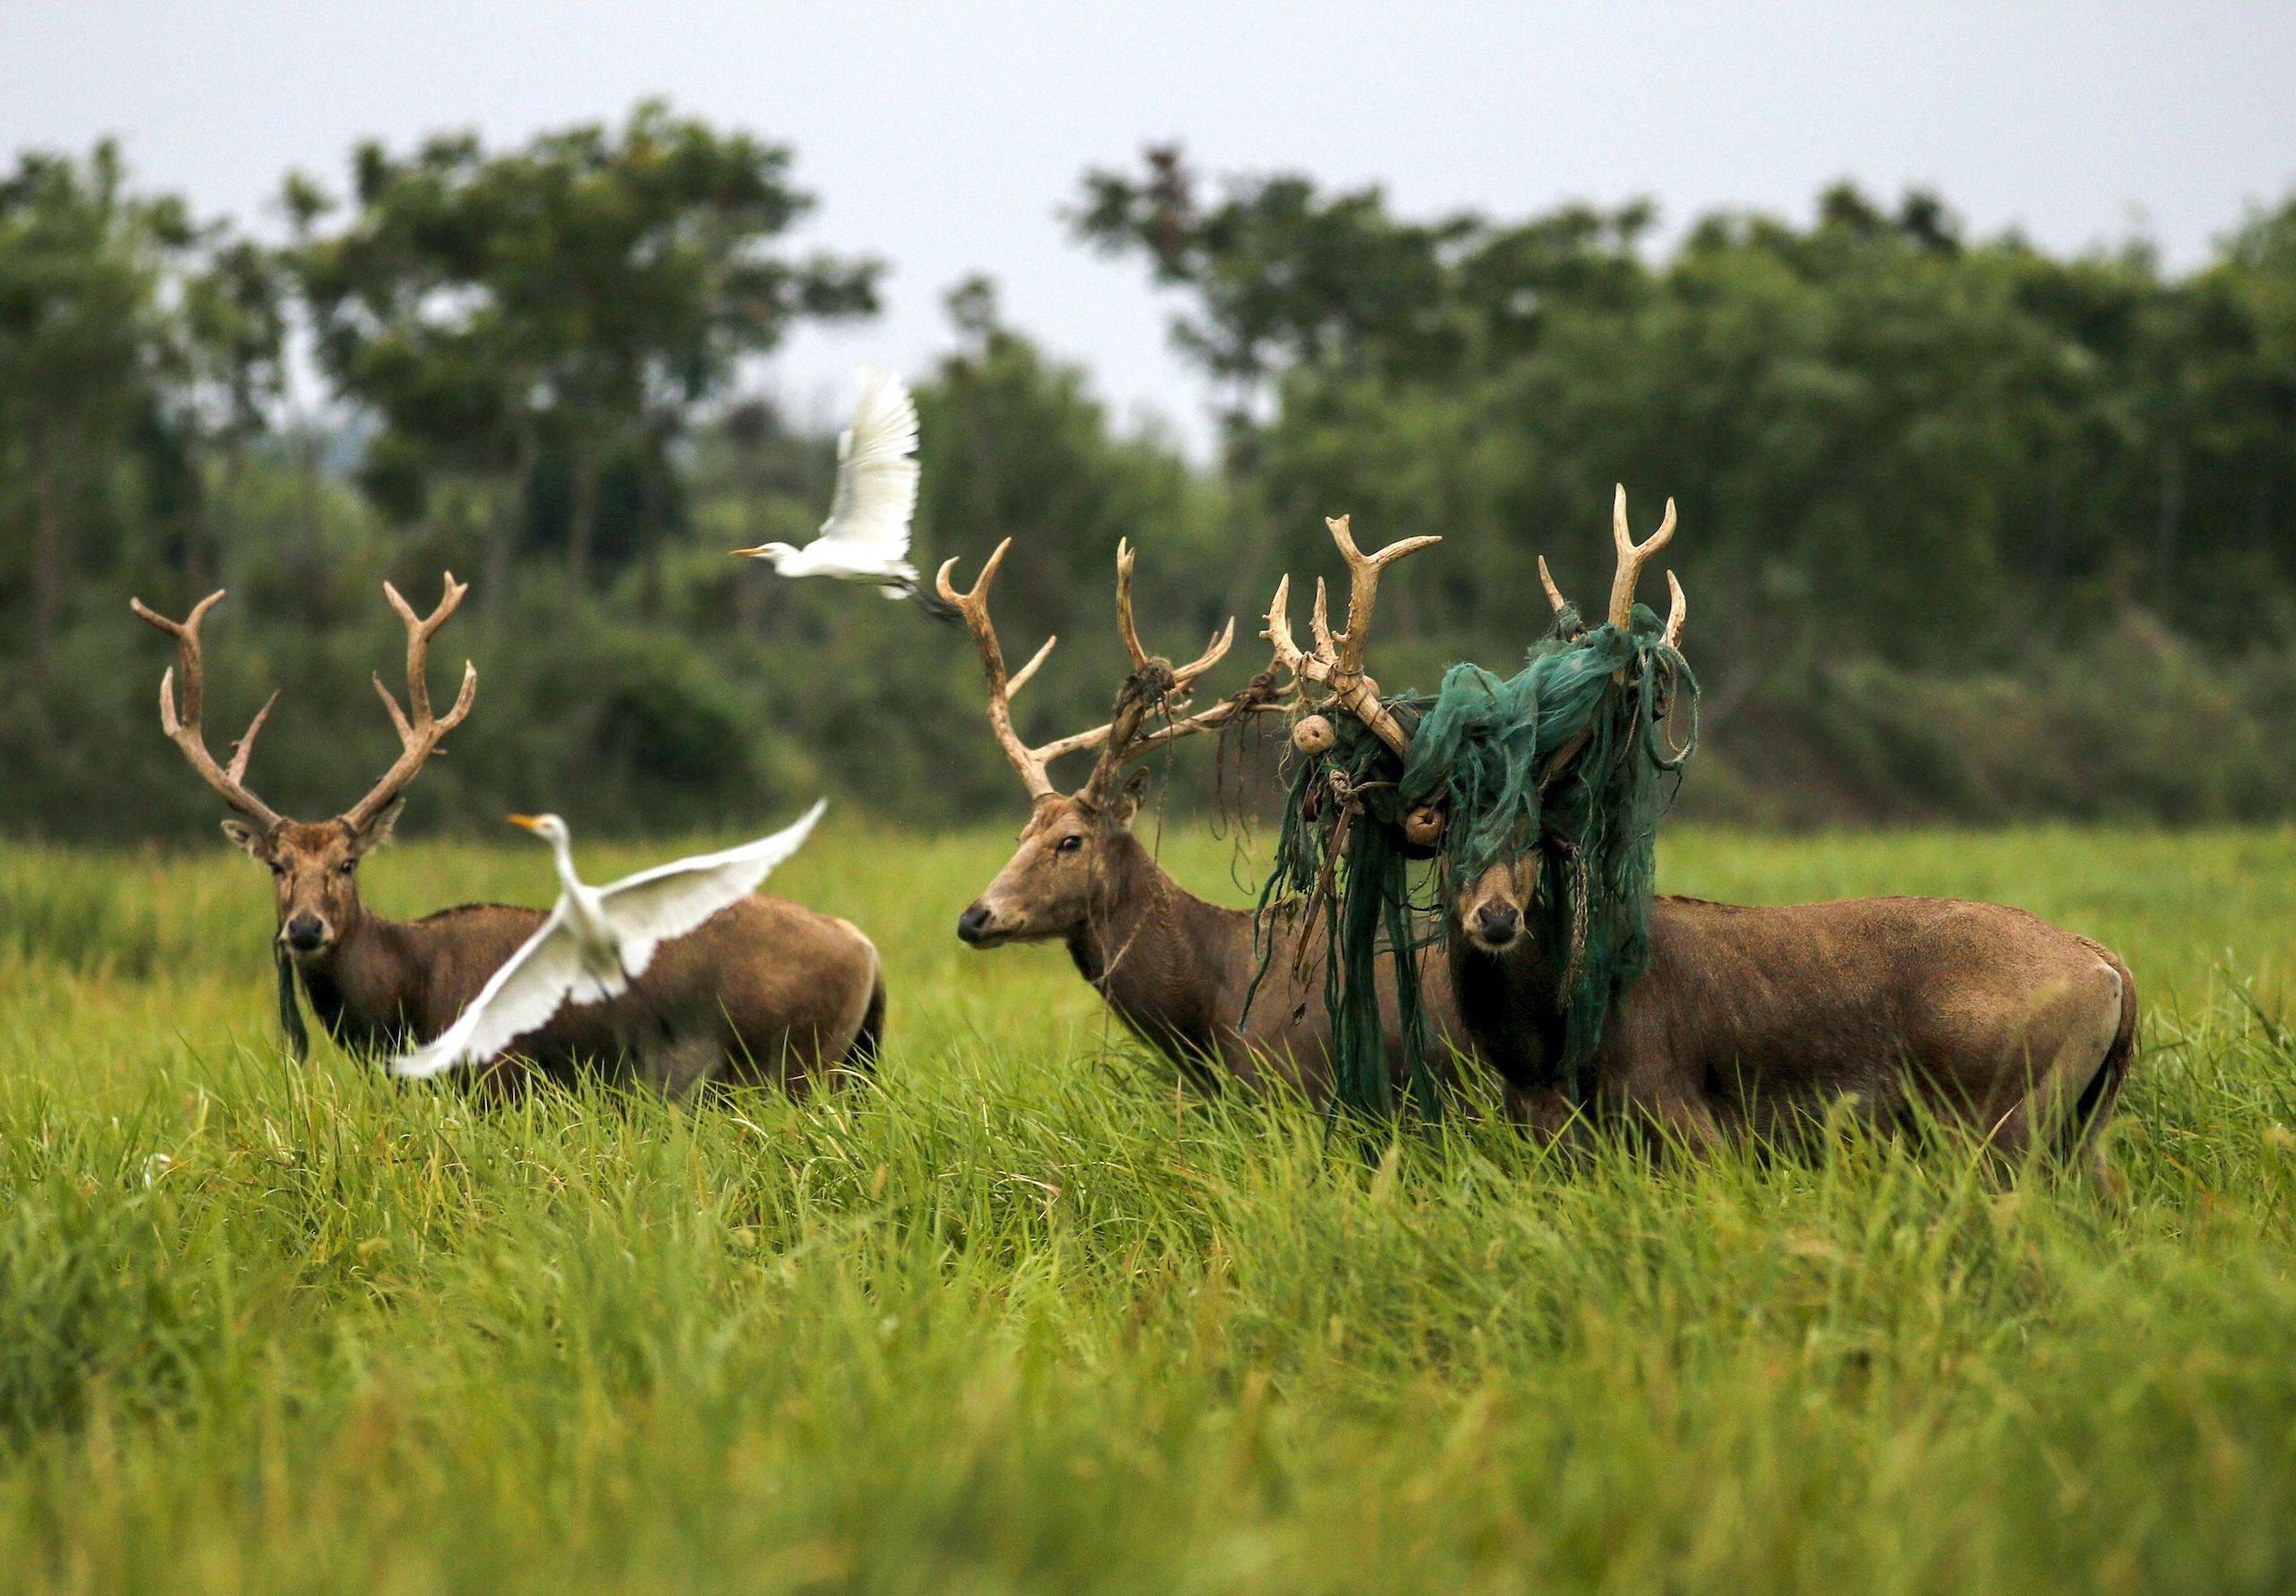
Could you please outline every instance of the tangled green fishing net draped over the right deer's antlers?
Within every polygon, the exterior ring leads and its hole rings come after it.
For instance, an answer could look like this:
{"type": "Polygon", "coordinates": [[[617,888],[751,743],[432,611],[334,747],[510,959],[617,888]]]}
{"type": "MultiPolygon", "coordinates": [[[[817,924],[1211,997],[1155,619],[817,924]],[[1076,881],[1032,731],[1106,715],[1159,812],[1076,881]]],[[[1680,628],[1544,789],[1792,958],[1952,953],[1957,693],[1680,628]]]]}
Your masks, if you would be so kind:
{"type": "Polygon", "coordinates": [[[1697,677],[1646,606],[1626,632],[1587,629],[1566,609],[1513,677],[1458,664],[1433,698],[1401,694],[1389,707],[1410,730],[1407,758],[1332,714],[1332,749],[1293,760],[1261,891],[1261,974],[1283,916],[1320,916],[1336,1105],[1394,1114],[1401,1086],[1412,1107],[1440,1114],[1419,981],[1424,948],[1442,937],[1437,891],[1536,850],[1527,935],[1566,951],[1557,1075],[1577,1102],[1612,1004],[1649,962],[1658,820],[1697,744],[1697,677]],[[1681,749],[1667,739],[1676,703],[1681,749]],[[1421,804],[1449,813],[1440,873],[1414,870],[1403,838],[1403,815],[1421,804]],[[1394,967],[1401,1061],[1387,1059],[1380,1022],[1382,958],[1394,967]]]}

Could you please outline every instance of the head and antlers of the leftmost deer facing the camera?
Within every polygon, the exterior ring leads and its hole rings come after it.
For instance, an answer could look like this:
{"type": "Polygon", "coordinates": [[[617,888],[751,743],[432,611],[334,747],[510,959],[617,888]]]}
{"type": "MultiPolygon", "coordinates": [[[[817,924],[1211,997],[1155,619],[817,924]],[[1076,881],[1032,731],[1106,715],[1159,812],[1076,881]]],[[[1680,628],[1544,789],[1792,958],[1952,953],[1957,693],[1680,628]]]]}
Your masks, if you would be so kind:
{"type": "Polygon", "coordinates": [[[271,694],[264,707],[255,712],[246,735],[232,749],[230,765],[218,765],[216,756],[207,751],[207,737],[200,730],[200,710],[207,689],[200,622],[223,599],[223,592],[209,592],[186,620],[168,620],[145,609],[142,599],[131,599],[138,615],[174,638],[177,664],[158,682],[161,728],[184,751],[184,760],[200,778],[225,804],[239,811],[241,820],[225,820],[223,834],[243,847],[248,857],[271,868],[278,907],[278,946],[296,960],[324,958],[358,923],[358,861],[390,836],[406,783],[439,751],[439,742],[461,726],[461,719],[471,712],[471,700],[478,696],[478,666],[468,661],[461,668],[461,691],[455,698],[455,707],[441,719],[432,714],[429,703],[429,641],[461,604],[466,590],[448,572],[439,609],[429,615],[416,615],[413,606],[400,597],[400,590],[388,581],[383,583],[383,597],[390,599],[390,609],[406,622],[406,707],[400,710],[397,698],[390,696],[383,680],[374,677],[374,691],[381,694],[383,707],[390,710],[390,723],[400,733],[400,758],[351,808],[333,820],[317,822],[280,815],[246,785],[248,756],[255,753],[255,733],[262,730],[271,705],[278,703],[278,694],[271,694]],[[184,673],[181,694],[177,691],[177,671],[184,673]]]}

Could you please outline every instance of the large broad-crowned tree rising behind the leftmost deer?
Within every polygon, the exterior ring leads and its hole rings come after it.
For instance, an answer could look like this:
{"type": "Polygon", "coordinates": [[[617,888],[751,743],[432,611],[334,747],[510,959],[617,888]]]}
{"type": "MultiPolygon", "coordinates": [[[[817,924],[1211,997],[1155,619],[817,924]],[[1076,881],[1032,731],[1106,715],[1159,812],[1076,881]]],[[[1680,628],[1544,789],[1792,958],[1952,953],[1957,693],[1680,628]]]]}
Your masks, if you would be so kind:
{"type": "Polygon", "coordinates": [[[374,485],[402,514],[457,473],[494,485],[489,586],[505,586],[546,457],[569,473],[567,565],[590,576],[599,475],[636,459],[641,544],[696,404],[799,319],[877,308],[875,262],[771,246],[813,200],[792,156],[643,103],[494,154],[475,135],[411,156],[365,145],[354,207],[289,184],[294,266],[321,365],[383,423],[374,485]]]}

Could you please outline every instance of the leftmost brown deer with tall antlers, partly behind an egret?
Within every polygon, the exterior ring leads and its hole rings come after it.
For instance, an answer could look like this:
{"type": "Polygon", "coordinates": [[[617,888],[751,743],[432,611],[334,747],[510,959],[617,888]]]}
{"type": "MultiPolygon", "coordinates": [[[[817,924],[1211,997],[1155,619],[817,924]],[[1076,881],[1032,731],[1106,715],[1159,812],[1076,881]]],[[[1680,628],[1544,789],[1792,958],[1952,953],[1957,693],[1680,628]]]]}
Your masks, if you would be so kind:
{"type": "MultiPolygon", "coordinates": [[[[360,861],[390,836],[406,783],[478,696],[478,668],[464,664],[455,707],[432,714],[429,643],[464,592],[448,574],[439,609],[416,615],[383,583],[383,597],[406,622],[406,707],[374,677],[400,733],[400,758],[351,808],[315,822],[280,815],[246,785],[255,735],[278,694],[257,710],[227,767],[207,751],[200,622],[223,592],[200,599],[181,622],[133,602],[138,615],[174,638],[184,673],[181,698],[174,668],[161,677],[161,726],[200,778],[243,815],[223,822],[225,836],[271,868],[280,1022],[296,1059],[305,1052],[296,983],[338,1045],[365,1056],[400,1052],[443,1031],[544,919],[542,909],[473,902],[393,921],[358,900],[360,861]]],[[[829,1066],[870,1063],[882,1029],[884,974],[868,937],[760,893],[664,946],[625,997],[563,1008],[517,1054],[558,1077],[579,1068],[620,1070],[627,1059],[634,1079],[666,1093],[712,1079],[804,1088],[829,1066]]],[[[484,1075],[519,1079],[507,1059],[484,1075]]]]}

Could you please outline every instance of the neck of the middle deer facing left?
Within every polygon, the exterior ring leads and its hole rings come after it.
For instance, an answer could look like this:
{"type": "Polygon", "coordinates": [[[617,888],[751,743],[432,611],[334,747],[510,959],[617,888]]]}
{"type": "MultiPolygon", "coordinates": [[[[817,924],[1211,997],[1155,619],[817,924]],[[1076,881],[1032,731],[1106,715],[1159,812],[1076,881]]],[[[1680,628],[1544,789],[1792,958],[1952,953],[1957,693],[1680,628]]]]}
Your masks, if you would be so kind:
{"type": "Polygon", "coordinates": [[[1226,987],[1251,916],[1194,896],[1125,834],[1097,905],[1068,935],[1068,955],[1109,1008],[1150,1040],[1217,1052],[1226,987]]]}

